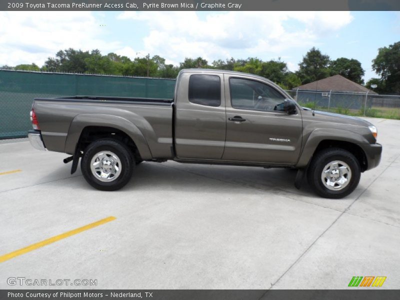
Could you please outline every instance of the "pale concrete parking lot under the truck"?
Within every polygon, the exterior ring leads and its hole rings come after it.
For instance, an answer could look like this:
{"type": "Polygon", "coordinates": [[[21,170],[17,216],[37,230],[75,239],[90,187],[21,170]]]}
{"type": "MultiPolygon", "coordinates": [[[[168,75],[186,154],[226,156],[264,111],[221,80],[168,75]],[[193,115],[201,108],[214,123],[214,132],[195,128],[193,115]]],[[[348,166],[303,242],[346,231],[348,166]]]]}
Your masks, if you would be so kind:
{"type": "MultiPolygon", "coordinates": [[[[50,288],[347,288],[386,276],[400,288],[400,120],[367,118],[378,167],[343,199],[295,189],[296,172],[143,162],[131,182],[98,191],[67,155],[26,139],[0,143],[0,256],[115,219],[0,262],[7,278],[96,279],[50,288]]],[[[49,286],[22,286],[46,288],[49,286]]]]}

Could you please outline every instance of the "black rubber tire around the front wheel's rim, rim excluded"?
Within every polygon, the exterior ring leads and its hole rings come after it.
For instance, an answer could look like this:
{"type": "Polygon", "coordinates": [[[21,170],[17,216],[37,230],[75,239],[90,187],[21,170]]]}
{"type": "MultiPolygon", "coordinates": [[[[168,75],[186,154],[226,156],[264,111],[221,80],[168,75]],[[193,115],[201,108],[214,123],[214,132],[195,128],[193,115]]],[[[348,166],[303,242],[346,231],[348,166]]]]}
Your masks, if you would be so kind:
{"type": "Polygon", "coordinates": [[[350,194],[358,185],[361,175],[357,158],[349,151],[342,148],[326,148],[317,152],[312,157],[307,170],[308,184],[320,196],[324,198],[338,199],[350,194]],[[322,182],[321,174],[324,167],[331,161],[339,160],[347,164],[351,171],[351,177],[344,187],[331,190],[322,182]]]}

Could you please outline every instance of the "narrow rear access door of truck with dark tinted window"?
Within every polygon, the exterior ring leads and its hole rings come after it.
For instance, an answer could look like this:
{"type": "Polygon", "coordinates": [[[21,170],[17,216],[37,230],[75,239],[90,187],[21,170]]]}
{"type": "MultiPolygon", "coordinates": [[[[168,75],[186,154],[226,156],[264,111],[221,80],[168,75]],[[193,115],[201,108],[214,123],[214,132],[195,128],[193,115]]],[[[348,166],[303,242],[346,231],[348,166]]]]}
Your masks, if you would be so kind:
{"type": "Polygon", "coordinates": [[[179,75],[174,119],[178,158],[221,159],[226,130],[224,98],[222,74],[179,75]]]}

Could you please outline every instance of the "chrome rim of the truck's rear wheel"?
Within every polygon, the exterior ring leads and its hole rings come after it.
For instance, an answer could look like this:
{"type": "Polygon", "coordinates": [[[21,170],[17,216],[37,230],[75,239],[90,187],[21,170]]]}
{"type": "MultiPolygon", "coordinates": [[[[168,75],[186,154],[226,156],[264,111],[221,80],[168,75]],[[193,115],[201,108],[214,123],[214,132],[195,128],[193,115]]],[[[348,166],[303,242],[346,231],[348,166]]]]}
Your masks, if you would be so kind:
{"type": "Polygon", "coordinates": [[[118,178],[121,169],[122,165],[118,155],[111,151],[97,152],[90,161],[91,173],[103,182],[110,182],[118,178]]]}

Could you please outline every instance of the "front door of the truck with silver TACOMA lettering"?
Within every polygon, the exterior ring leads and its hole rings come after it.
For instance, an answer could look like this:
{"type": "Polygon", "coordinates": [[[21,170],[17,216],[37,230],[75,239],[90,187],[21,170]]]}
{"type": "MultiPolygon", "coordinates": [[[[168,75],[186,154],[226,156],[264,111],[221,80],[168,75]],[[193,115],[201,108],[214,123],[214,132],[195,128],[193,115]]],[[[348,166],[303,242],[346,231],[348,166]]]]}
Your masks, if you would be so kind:
{"type": "Polygon", "coordinates": [[[293,164],[301,148],[300,111],[283,110],[285,95],[254,77],[225,74],[226,142],[222,159],[293,164]]]}

